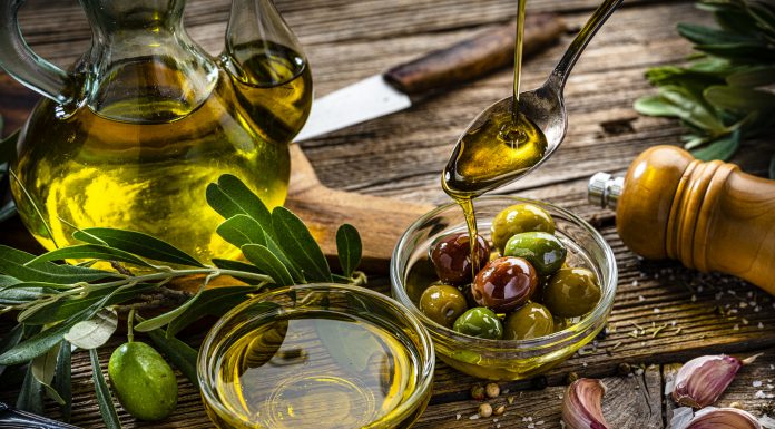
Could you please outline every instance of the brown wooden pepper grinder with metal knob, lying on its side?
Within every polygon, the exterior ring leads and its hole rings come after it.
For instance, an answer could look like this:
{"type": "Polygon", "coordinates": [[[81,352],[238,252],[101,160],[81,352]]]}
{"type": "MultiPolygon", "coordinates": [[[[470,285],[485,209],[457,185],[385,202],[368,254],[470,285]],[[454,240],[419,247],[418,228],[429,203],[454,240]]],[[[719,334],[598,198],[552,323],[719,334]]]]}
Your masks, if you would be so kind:
{"type": "Polygon", "coordinates": [[[588,191],[592,204],[616,209],[635,253],[733,274],[775,294],[775,181],[655,146],[624,178],[598,173],[588,191]]]}

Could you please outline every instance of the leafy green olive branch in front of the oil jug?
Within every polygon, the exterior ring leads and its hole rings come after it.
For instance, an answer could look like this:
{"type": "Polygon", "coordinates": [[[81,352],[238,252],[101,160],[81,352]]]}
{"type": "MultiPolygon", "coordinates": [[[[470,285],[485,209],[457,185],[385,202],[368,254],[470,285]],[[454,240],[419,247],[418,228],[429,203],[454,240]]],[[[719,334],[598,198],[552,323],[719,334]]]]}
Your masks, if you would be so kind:
{"type": "Polygon", "coordinates": [[[208,204],[224,217],[218,235],[242,250],[246,262],[213,260],[206,265],[153,236],[106,227],[79,230],[81,242],[40,256],[0,245],[0,314],[17,313],[16,328],[0,340],[0,377],[26,371],[17,407],[42,410],[42,394],[57,401],[67,418],[71,408],[70,349],[90,350],[100,411],[117,422],[110,391],[95,350],[116,331],[119,304],[141,311],[148,296],[175,293],[175,279],[198,276],[198,290],[179,306],[141,320],[135,331],[148,333],[167,360],[197,386],[197,352],[175,335],[206,316],[219,316],[267,287],[310,282],[365,283],[356,272],[361,238],[351,225],[336,234],[343,274],[331,272],[321,247],[304,223],[288,209],[272,212],[237,177],[223,175],[207,187],[208,204]],[[77,265],[56,261],[82,261],[77,265]],[[107,261],[116,271],[98,269],[107,261]],[[119,265],[122,264],[122,265],[119,265]],[[134,272],[126,266],[134,267],[134,272]],[[207,289],[218,276],[230,286],[207,289]],[[27,369],[24,370],[24,365],[27,369]]]}

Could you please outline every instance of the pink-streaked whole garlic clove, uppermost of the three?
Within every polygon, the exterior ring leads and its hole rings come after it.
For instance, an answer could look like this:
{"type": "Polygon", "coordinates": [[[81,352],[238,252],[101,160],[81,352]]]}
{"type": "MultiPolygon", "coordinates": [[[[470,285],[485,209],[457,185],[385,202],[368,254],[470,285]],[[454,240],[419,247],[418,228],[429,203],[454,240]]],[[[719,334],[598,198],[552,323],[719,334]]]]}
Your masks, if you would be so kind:
{"type": "Polygon", "coordinates": [[[678,370],[673,399],[681,406],[707,407],[724,393],[742,367],[743,361],[725,354],[693,359],[678,370]]]}

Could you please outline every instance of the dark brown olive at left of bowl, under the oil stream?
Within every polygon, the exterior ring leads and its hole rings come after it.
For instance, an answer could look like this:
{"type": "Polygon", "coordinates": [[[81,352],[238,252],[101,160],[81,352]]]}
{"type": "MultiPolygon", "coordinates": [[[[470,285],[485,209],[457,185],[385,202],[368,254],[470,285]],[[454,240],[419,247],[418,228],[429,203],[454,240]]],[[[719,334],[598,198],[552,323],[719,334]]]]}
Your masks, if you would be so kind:
{"type": "MultiPolygon", "coordinates": [[[[477,236],[479,266],[490,259],[490,245],[480,235],[477,236]]],[[[439,240],[431,247],[431,262],[439,280],[450,284],[471,282],[471,247],[467,233],[452,234],[439,240]]]]}

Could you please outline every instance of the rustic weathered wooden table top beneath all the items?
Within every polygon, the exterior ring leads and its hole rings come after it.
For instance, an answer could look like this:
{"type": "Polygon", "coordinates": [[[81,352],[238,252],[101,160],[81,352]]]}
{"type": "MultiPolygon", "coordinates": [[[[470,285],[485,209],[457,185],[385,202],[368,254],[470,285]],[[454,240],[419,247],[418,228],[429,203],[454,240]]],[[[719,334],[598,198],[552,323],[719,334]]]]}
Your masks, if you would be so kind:
{"type": "MultiPolygon", "coordinates": [[[[186,25],[192,36],[217,52],[228,17],[228,1],[190,0],[186,25]]],[[[300,37],[313,67],[315,90],[325,95],[392,65],[488,31],[512,19],[514,0],[277,0],[278,9],[300,37]]],[[[541,0],[530,11],[556,11],[578,28],[597,0],[541,0]]],[[[24,35],[43,57],[70,64],[90,37],[75,0],[30,0],[23,8],[24,35]]],[[[477,380],[443,363],[436,368],[434,394],[416,428],[560,428],[565,379],[569,372],[605,378],[609,392],[605,413],[614,428],[666,428],[671,401],[663,394],[674,362],[705,353],[765,354],[745,368],[719,403],[732,402],[756,416],[773,415],[775,379],[775,303],[772,296],[733,277],[700,275],[673,263],[638,260],[619,240],[611,212],[586,202],[586,182],[599,170],[621,173],[645,148],[677,144],[673,120],[639,117],[632,100],[653,89],[647,67],[683,60],[690,53],[677,37],[678,21],[703,21],[690,2],[628,0],[586,51],[566,90],[569,128],[562,147],[530,177],[503,193],[550,201],[591,221],[614,247],[619,291],[606,335],[546,377],[501,383],[494,403],[508,403],[496,420],[471,419],[478,402],[469,397],[477,380]],[[661,328],[656,334],[655,328],[661,328]],[[646,331],[646,332],[644,332],[646,331]],[[618,372],[627,363],[630,376],[618,372]],[[763,381],[754,387],[753,381],[763,381]],[[507,393],[508,391],[508,393],[507,393]],[[761,393],[756,393],[762,391],[761,393]]],[[[526,88],[536,87],[553,67],[571,35],[526,64],[526,88]]],[[[26,89],[2,79],[0,114],[9,128],[23,120],[31,105],[26,89]]],[[[483,107],[508,94],[511,72],[503,70],[454,91],[438,95],[408,111],[351,127],[304,143],[321,181],[333,188],[387,196],[405,202],[445,203],[439,173],[459,133],[483,107]],[[343,172],[346,172],[343,174],[343,172]]],[[[764,145],[763,142],[754,145],[764,145]]],[[[763,174],[766,160],[742,153],[735,159],[763,174]]],[[[18,221],[0,225],[0,242],[24,241],[18,221]]],[[[387,290],[381,274],[372,284],[387,290]]],[[[0,322],[8,326],[9,321],[0,322]]],[[[4,329],[3,329],[4,330],[4,329]]],[[[106,362],[111,348],[100,352],[106,362]]],[[[72,422],[102,426],[88,355],[73,357],[72,422]]],[[[121,412],[126,427],[205,428],[198,393],[182,379],[178,409],[167,421],[144,423],[121,412]]],[[[16,391],[2,389],[0,400],[16,391]]],[[[57,417],[50,406],[51,416],[57,417]]]]}

